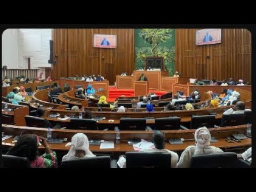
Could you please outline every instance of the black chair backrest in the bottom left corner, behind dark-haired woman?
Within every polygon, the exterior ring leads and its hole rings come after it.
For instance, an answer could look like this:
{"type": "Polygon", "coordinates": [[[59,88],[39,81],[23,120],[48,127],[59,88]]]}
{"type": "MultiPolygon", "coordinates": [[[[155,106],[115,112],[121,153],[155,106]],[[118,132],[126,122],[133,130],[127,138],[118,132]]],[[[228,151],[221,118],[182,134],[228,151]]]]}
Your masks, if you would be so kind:
{"type": "Polygon", "coordinates": [[[4,168],[30,168],[30,161],[27,157],[13,155],[2,155],[4,168]]]}

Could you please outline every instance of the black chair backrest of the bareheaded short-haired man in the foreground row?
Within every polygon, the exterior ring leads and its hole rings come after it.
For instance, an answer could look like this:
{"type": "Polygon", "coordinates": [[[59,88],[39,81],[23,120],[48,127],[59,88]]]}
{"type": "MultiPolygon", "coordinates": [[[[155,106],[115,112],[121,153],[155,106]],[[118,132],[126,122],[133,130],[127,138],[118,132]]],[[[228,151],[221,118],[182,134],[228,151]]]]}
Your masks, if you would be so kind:
{"type": "Polygon", "coordinates": [[[171,168],[170,153],[126,152],[126,168],[171,168]]]}

